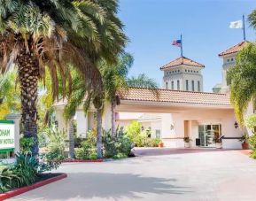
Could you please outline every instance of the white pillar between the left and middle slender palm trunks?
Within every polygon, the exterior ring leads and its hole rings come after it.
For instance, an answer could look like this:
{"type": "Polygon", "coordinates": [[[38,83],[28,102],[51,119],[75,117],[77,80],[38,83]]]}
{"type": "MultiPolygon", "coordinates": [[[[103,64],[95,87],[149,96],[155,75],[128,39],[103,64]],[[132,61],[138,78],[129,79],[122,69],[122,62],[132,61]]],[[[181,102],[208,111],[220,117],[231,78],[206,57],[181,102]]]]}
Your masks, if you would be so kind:
{"type": "Polygon", "coordinates": [[[88,116],[83,111],[76,111],[77,136],[86,137],[88,132],[88,116]]]}

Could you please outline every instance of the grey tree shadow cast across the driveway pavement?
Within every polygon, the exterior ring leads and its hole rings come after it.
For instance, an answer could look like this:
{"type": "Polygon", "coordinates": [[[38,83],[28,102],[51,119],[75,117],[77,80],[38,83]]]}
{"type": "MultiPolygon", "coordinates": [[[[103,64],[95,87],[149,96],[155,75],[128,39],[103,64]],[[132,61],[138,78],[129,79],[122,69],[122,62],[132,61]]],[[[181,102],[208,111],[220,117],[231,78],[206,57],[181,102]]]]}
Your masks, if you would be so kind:
{"type": "Polygon", "coordinates": [[[36,189],[22,200],[100,200],[142,198],[144,194],[183,194],[186,187],[175,186],[175,179],[144,177],[139,174],[72,173],[66,180],[36,189]]]}

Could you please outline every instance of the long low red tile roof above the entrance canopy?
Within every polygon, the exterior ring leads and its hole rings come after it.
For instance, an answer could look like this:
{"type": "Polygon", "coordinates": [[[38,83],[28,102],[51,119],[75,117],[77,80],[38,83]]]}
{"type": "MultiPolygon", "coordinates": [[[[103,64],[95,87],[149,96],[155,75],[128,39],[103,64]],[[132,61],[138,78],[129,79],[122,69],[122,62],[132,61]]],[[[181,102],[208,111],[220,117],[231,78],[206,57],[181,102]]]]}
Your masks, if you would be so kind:
{"type": "Polygon", "coordinates": [[[231,105],[229,96],[226,94],[169,89],[158,89],[158,91],[159,98],[152,93],[151,89],[130,88],[128,92],[120,93],[120,99],[183,104],[231,105]]]}

